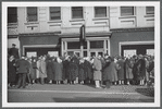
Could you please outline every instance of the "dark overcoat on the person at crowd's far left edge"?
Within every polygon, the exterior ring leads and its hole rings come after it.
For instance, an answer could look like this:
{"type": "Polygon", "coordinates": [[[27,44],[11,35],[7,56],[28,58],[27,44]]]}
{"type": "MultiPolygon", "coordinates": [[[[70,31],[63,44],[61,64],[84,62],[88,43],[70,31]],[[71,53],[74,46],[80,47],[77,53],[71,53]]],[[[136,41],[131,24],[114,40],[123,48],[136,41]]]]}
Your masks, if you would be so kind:
{"type": "Polygon", "coordinates": [[[8,82],[15,82],[16,80],[16,68],[15,68],[15,60],[9,61],[8,60],[8,82]]]}

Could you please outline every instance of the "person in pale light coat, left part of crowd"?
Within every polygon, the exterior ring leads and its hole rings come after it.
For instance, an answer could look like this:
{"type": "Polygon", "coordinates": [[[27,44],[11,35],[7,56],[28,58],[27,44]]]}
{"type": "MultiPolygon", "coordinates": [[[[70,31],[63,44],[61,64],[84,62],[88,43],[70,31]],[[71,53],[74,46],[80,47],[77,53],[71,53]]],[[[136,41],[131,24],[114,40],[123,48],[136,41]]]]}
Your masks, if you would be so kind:
{"type": "Polygon", "coordinates": [[[47,63],[46,63],[46,57],[42,57],[40,60],[40,66],[38,68],[40,73],[40,83],[43,85],[45,84],[45,78],[47,77],[47,63]]]}

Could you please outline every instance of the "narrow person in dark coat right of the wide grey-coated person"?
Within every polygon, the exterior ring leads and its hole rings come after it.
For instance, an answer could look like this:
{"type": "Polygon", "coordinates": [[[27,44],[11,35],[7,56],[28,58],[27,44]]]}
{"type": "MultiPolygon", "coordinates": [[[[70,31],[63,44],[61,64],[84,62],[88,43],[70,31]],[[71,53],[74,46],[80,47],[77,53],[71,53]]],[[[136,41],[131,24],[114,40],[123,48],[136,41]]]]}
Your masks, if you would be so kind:
{"type": "Polygon", "coordinates": [[[124,84],[124,59],[123,57],[119,58],[117,64],[120,65],[120,70],[117,72],[117,76],[119,76],[119,84],[124,84]]]}

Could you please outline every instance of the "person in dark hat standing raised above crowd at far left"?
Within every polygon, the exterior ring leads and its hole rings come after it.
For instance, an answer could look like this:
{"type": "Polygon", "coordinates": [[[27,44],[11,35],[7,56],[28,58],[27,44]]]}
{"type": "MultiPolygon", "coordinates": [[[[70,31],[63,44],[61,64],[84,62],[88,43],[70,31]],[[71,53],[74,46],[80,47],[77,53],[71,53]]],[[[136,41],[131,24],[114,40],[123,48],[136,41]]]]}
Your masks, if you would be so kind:
{"type": "Polygon", "coordinates": [[[10,56],[14,56],[15,59],[20,59],[18,49],[15,48],[15,44],[12,44],[12,48],[9,50],[10,56]]]}

